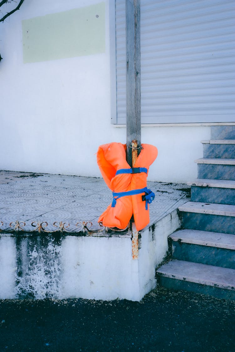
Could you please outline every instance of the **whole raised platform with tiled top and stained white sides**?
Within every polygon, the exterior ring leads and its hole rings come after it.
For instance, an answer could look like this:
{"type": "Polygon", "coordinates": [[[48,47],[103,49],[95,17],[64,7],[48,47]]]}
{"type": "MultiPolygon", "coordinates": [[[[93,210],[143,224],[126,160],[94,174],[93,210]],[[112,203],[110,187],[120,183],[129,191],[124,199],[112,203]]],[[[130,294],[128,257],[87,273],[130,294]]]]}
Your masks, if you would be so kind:
{"type": "Polygon", "coordinates": [[[148,188],[155,193],[150,224],[118,232],[97,222],[112,201],[102,178],[1,171],[0,298],[140,301],[156,285],[188,190],[148,188]]]}

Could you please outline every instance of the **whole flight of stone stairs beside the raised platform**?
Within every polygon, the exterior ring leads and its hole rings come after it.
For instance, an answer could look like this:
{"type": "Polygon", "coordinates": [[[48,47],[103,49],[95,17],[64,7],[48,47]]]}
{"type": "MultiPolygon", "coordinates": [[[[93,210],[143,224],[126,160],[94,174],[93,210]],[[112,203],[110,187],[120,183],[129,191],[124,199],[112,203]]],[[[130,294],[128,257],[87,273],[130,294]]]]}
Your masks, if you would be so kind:
{"type": "Polygon", "coordinates": [[[170,236],[172,260],[156,271],[160,286],[235,300],[235,126],[212,126],[196,160],[182,230],[170,236]]]}

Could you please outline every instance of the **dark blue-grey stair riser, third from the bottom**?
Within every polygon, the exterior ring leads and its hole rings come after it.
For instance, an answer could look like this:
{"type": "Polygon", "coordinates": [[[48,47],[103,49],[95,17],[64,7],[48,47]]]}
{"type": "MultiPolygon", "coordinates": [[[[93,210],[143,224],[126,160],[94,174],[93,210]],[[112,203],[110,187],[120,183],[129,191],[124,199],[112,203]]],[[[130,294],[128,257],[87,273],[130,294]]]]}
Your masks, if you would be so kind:
{"type": "Polygon", "coordinates": [[[181,212],[181,214],[183,228],[235,234],[235,216],[190,212],[181,212]]]}

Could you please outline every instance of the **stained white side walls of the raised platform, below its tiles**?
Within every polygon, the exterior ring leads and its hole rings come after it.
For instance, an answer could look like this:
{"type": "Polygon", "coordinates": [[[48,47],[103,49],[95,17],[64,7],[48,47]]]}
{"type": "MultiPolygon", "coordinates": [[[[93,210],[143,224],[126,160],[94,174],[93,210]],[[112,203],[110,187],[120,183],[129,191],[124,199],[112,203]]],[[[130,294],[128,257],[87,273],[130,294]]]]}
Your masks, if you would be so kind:
{"type": "Polygon", "coordinates": [[[1,233],[0,298],[140,301],[155,287],[155,267],[178,227],[177,210],[146,227],[135,260],[130,232],[106,237],[1,233]]]}

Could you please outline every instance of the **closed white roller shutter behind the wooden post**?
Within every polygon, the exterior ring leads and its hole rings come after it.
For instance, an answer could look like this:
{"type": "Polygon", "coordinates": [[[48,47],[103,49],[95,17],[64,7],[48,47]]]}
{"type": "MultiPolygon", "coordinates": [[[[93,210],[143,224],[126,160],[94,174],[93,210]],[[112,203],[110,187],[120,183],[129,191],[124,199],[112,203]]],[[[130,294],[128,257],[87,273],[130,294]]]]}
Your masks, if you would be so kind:
{"type": "MultiPolygon", "coordinates": [[[[142,123],[235,121],[235,1],[141,0],[142,123]]],[[[116,0],[117,124],[125,123],[125,0],[116,0]]]]}

